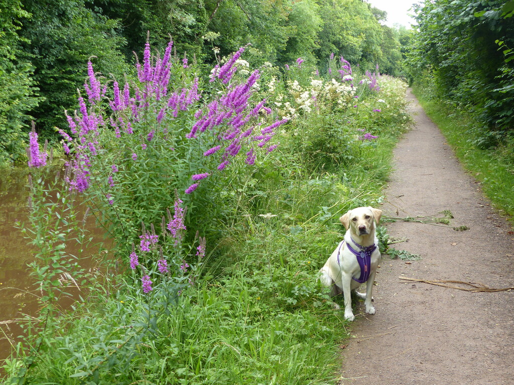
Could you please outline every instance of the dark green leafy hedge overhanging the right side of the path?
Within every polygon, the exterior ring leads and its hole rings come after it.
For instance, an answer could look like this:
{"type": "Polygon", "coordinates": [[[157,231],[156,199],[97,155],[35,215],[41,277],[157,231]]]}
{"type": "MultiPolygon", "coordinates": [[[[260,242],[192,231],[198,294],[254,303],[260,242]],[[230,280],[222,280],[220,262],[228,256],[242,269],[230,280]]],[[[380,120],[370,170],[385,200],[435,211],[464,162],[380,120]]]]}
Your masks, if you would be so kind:
{"type": "Polygon", "coordinates": [[[490,148],[512,140],[514,2],[436,0],[415,10],[411,79],[471,114],[470,144],[490,148]]]}

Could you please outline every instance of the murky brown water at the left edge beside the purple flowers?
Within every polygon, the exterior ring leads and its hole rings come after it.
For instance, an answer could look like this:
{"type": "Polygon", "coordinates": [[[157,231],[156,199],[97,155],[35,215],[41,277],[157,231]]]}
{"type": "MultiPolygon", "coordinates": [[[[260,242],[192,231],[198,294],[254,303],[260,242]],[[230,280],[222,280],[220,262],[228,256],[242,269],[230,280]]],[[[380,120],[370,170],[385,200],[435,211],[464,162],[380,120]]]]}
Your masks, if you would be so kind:
{"type": "MultiPolygon", "coordinates": [[[[16,221],[27,222],[27,177],[28,169],[1,171],[0,176],[0,367],[11,353],[12,344],[22,334],[14,321],[23,315],[33,315],[38,310],[37,296],[40,292],[32,284],[27,264],[34,260],[27,239],[15,227],[16,221]]],[[[51,176],[53,178],[53,175],[51,176]]],[[[101,232],[96,230],[93,218],[86,228],[96,239],[101,232]]],[[[68,247],[68,245],[67,245],[68,247]]],[[[68,250],[70,254],[76,251],[68,250]]],[[[98,247],[89,247],[81,255],[80,265],[89,268],[90,256],[98,254],[98,247]]],[[[67,301],[69,302],[69,300],[67,301]]],[[[0,376],[2,373],[0,372],[0,376]]]]}

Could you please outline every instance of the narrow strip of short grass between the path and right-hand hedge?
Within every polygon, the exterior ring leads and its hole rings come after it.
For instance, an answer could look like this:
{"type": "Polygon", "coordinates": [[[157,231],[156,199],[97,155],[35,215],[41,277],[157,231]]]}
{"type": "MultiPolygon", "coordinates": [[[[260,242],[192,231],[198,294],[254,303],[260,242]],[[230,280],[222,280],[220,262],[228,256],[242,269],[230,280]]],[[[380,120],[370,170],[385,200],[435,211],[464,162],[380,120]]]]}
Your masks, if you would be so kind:
{"type": "Polygon", "coordinates": [[[506,151],[481,149],[474,144],[476,123],[467,113],[430,98],[419,87],[414,87],[413,92],[430,119],[441,129],[457,158],[473,178],[481,182],[484,194],[497,209],[514,217],[514,168],[509,157],[503,155],[506,151]]]}

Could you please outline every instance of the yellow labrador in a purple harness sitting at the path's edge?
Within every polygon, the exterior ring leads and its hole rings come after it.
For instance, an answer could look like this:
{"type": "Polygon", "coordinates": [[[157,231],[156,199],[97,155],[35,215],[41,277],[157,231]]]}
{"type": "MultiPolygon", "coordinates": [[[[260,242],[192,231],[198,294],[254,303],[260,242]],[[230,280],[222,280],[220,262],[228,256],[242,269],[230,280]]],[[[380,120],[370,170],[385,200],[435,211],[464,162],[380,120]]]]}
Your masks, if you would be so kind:
{"type": "MultiPolygon", "coordinates": [[[[380,222],[382,210],[373,207],[357,207],[344,214],[339,221],[346,228],[344,240],[320,270],[320,281],[330,287],[331,297],[344,296],[344,318],[353,321],[351,292],[364,299],[365,311],[375,314],[372,306],[372,291],[375,273],[380,261],[375,222],[380,222]],[[366,282],[366,294],[357,288],[366,282]]],[[[339,306],[337,306],[339,309],[339,306]]]]}

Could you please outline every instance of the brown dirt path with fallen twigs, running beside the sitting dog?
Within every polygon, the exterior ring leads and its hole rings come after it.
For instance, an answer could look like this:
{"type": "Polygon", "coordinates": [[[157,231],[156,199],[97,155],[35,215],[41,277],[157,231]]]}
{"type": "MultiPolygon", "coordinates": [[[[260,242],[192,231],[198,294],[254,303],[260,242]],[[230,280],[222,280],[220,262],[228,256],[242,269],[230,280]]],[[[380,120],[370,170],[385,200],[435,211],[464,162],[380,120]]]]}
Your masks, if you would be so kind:
{"type": "MultiPolygon", "coordinates": [[[[340,384],[514,384],[514,291],[470,293],[398,277],[514,286],[514,237],[480,184],[465,174],[438,128],[408,92],[416,126],[395,150],[386,215],[450,210],[452,226],[388,225],[396,248],[420,254],[406,264],[382,258],[374,316],[360,315],[342,351],[340,384]]],[[[442,215],[441,215],[442,216],[442,215]]],[[[363,311],[363,303],[358,309],[363,311]]]]}

